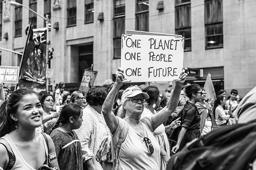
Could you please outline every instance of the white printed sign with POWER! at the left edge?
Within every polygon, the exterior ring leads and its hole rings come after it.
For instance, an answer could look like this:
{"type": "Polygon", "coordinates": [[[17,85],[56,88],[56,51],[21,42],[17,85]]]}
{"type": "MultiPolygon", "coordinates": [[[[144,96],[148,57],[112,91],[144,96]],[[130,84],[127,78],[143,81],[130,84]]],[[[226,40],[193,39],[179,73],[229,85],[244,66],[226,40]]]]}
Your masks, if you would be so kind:
{"type": "Polygon", "coordinates": [[[0,81],[4,83],[18,83],[19,70],[20,67],[0,66],[0,81]]]}

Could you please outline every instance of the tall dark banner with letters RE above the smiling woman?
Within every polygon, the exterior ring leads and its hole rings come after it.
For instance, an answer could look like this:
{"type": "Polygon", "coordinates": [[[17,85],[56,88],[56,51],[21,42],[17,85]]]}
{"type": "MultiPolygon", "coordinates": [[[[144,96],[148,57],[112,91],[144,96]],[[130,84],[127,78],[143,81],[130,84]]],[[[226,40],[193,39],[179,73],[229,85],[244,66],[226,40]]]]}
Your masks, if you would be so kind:
{"type": "Polygon", "coordinates": [[[46,90],[46,28],[26,29],[28,35],[20,62],[19,88],[30,88],[36,92],[46,90]]]}

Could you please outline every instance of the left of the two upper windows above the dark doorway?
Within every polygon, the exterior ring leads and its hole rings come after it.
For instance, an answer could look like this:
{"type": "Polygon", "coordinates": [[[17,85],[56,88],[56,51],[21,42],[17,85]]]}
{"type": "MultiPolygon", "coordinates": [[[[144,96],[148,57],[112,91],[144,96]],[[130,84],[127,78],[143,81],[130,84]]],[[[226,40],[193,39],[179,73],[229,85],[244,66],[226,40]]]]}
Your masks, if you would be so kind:
{"type": "Polygon", "coordinates": [[[67,26],[77,25],[77,0],[67,0],[67,26]]]}

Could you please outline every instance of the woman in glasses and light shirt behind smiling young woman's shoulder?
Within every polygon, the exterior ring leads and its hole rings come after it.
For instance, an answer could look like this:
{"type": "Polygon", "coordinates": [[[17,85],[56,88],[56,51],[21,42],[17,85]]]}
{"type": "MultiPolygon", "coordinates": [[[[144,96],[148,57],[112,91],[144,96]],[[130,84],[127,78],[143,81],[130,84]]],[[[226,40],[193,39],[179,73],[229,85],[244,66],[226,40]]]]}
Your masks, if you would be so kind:
{"type": "Polygon", "coordinates": [[[41,105],[44,109],[44,132],[47,134],[51,133],[52,128],[56,124],[60,112],[52,112],[52,108],[54,106],[53,96],[50,94],[44,94],[40,97],[41,105]]]}

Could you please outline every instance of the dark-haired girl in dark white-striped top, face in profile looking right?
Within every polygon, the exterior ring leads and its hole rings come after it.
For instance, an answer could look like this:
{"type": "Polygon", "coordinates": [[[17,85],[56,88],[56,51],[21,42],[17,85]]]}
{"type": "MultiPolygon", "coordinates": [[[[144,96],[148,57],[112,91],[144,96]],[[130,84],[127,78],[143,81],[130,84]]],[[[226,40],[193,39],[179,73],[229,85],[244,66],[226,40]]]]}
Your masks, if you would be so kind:
{"type": "Polygon", "coordinates": [[[82,108],[74,103],[64,105],[59,120],[50,136],[54,142],[56,155],[61,170],[82,170],[82,147],[75,129],[83,121],[82,108]]]}

